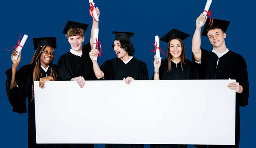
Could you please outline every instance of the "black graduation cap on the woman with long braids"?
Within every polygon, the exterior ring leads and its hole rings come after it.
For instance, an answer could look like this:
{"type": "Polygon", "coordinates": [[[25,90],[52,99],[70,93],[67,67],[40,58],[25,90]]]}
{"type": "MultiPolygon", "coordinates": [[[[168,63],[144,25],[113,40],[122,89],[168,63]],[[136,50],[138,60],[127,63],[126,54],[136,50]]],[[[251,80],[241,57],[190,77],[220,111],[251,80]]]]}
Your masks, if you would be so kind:
{"type": "Polygon", "coordinates": [[[33,38],[34,48],[35,50],[38,46],[51,46],[52,48],[57,48],[56,37],[36,37],[33,38]]]}

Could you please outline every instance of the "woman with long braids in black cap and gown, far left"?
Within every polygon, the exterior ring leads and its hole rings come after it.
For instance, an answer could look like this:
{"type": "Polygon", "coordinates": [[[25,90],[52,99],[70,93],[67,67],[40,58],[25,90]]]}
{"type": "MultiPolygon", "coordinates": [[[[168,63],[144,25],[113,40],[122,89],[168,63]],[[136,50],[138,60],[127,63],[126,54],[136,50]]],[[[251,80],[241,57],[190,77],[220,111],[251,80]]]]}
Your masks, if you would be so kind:
{"type": "MultiPolygon", "coordinates": [[[[26,113],[26,98],[28,98],[28,148],[49,148],[54,145],[36,144],[35,134],[35,98],[34,81],[39,81],[39,87],[44,88],[44,82],[59,80],[57,75],[57,65],[53,65],[54,50],[56,48],[55,37],[33,38],[36,49],[29,65],[22,66],[17,72],[21,54],[17,60],[16,49],[11,55],[12,68],[6,71],[6,93],[14,112],[26,113]]],[[[56,145],[55,145],[56,146],[56,145]]]]}

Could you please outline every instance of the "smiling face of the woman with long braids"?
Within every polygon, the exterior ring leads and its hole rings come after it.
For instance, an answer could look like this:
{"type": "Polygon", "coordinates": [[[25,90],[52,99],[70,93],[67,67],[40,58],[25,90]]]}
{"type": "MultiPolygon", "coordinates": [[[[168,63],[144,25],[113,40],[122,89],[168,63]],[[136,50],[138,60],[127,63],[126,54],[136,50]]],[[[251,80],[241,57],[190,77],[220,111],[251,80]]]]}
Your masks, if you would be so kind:
{"type": "Polygon", "coordinates": [[[41,65],[49,65],[54,57],[54,50],[52,47],[47,46],[40,56],[41,65]]]}

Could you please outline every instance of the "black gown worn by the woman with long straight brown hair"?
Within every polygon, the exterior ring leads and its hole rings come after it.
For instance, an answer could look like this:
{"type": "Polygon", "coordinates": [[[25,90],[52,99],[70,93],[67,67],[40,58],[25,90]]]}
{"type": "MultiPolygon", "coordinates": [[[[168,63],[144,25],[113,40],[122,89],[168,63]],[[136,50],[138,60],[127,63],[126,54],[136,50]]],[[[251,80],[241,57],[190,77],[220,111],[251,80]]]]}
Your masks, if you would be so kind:
{"type": "MultiPolygon", "coordinates": [[[[159,78],[160,80],[189,80],[197,79],[198,74],[195,69],[195,66],[192,65],[192,62],[189,60],[185,61],[185,64],[182,64],[183,70],[181,68],[181,63],[175,64],[171,61],[171,71],[168,72],[168,60],[164,59],[161,61],[161,66],[159,68],[159,78]]],[[[154,73],[152,80],[154,80],[154,73]]]]}

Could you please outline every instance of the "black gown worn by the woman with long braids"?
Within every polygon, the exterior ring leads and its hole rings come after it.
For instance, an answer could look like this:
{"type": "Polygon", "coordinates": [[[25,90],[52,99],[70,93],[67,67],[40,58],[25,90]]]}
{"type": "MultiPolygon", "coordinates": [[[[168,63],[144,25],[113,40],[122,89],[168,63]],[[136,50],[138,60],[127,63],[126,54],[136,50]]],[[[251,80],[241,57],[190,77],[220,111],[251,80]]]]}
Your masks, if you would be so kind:
{"type": "MultiPolygon", "coordinates": [[[[57,71],[57,65],[52,65],[52,67],[57,71]]],[[[33,71],[35,65],[24,65],[22,66],[15,75],[15,82],[18,87],[10,89],[12,80],[12,68],[6,71],[6,93],[10,104],[12,105],[12,111],[17,113],[26,113],[26,98],[28,98],[28,148],[59,148],[58,145],[54,144],[36,144],[36,134],[35,134],[35,100],[32,100],[32,84],[33,84],[33,71]],[[32,100],[32,101],[31,101],[32,100]]],[[[45,72],[41,66],[40,71],[43,77],[50,75],[48,68],[45,72]]]]}

